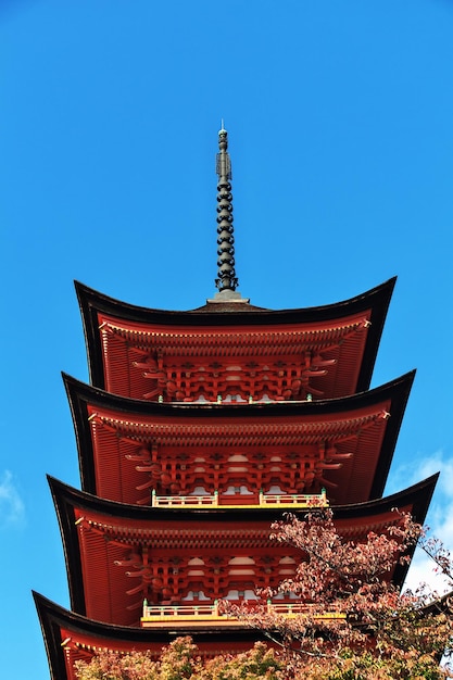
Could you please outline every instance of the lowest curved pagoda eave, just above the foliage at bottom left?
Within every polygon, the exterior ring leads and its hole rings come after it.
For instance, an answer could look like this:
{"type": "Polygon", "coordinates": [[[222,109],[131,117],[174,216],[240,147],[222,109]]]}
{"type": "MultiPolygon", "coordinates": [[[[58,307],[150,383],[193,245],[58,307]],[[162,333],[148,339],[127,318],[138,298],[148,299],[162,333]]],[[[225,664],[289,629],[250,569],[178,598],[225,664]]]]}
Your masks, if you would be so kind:
{"type": "MultiPolygon", "coordinates": [[[[197,630],[155,630],[129,628],[95,621],[74,612],[59,606],[39,593],[33,593],[41,625],[47,656],[52,680],[75,680],[65,662],[62,643],[71,637],[68,644],[79,644],[88,648],[109,648],[123,652],[125,650],[151,651],[160,655],[162,646],[169,644],[176,637],[190,634],[200,650],[207,654],[219,654],[227,648],[244,650],[256,640],[263,640],[260,631],[238,627],[235,630],[209,631],[197,630]]],[[[74,659],[72,659],[74,660],[74,659]]]]}

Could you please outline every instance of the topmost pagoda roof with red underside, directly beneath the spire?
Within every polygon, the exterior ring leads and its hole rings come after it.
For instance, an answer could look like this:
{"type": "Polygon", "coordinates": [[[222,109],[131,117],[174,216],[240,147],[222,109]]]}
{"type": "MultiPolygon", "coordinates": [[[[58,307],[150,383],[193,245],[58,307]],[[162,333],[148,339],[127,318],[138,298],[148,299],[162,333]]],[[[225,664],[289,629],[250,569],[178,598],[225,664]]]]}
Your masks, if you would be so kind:
{"type": "Polygon", "coordinates": [[[369,388],[394,284],[392,278],[350,300],[306,308],[262,310],[241,301],[169,312],[127,304],[76,282],[90,381],[144,399],[150,380],[136,364],[147,355],[189,363],[322,355],[330,366],[311,374],[315,394],[361,392],[369,388]]]}

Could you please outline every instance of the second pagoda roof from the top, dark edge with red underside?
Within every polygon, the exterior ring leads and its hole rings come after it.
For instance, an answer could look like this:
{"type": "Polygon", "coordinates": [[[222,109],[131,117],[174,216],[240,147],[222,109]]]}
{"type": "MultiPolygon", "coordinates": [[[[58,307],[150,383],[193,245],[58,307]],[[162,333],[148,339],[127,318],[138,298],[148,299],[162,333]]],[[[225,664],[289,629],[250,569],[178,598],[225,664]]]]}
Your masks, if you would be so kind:
{"type": "MultiPolygon", "coordinates": [[[[242,452],[250,457],[246,463],[250,474],[256,473],[253,456],[264,456],[266,464],[278,453],[280,475],[292,456],[293,466],[300,468],[299,481],[306,482],[310,493],[326,486],[335,504],[379,498],[414,375],[342,399],[244,405],[143,402],[64,376],[83,489],[114,501],[140,502],[143,494],[137,488],[147,484],[149,475],[142,469],[149,467],[136,461],[155,446],[160,462],[173,461],[174,467],[183,454],[193,463],[205,452],[219,455],[225,469],[228,452],[242,452]],[[317,477],[310,486],[306,470],[312,469],[317,477]]],[[[203,473],[209,482],[213,465],[206,464],[203,473]]]]}

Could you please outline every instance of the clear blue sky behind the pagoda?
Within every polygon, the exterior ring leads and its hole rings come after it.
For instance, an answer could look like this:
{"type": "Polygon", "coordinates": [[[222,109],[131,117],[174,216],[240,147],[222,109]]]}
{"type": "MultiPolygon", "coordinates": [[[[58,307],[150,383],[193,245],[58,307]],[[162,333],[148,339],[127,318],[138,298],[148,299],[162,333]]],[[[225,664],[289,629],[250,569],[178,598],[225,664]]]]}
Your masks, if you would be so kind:
{"type": "Polygon", "coordinates": [[[73,279],[212,295],[222,117],[243,295],[311,306],[399,276],[373,385],[418,373],[388,491],[441,469],[429,522],[453,545],[452,34],[448,0],[0,3],[4,677],[48,678],[30,589],[68,605],[46,473],[79,487],[73,279]]]}

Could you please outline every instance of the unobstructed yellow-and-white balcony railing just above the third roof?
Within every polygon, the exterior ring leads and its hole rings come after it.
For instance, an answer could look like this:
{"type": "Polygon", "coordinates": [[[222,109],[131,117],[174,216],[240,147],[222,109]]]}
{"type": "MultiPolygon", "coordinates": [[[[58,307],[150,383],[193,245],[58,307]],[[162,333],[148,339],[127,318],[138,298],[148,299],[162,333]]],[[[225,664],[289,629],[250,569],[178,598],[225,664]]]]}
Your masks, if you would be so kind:
{"type": "Polygon", "coordinates": [[[326,490],[320,493],[266,493],[219,495],[158,495],[153,490],[151,495],[152,507],[278,507],[278,508],[310,508],[328,507],[326,490]]]}

